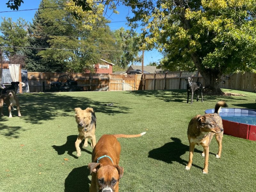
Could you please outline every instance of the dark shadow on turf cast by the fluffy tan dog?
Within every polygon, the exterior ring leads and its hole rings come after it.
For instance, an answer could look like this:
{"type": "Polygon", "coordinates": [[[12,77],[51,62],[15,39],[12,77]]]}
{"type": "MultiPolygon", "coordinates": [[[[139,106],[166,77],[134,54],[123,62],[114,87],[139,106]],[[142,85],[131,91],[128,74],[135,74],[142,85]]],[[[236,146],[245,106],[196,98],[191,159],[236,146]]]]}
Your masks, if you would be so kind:
{"type": "MultiPolygon", "coordinates": [[[[68,155],[77,159],[78,157],[73,155],[73,152],[76,151],[76,147],[75,147],[76,138],[77,138],[77,135],[69,135],[67,137],[67,141],[65,144],[61,146],[52,145],[52,147],[55,149],[55,151],[58,152],[58,155],[63,155],[66,151],[68,151],[67,153],[68,155]]],[[[83,148],[83,143],[84,142],[82,141],[80,144],[81,151],[85,151],[92,155],[92,152],[83,148]]],[[[88,143],[88,147],[91,147],[91,144],[88,143]]]]}

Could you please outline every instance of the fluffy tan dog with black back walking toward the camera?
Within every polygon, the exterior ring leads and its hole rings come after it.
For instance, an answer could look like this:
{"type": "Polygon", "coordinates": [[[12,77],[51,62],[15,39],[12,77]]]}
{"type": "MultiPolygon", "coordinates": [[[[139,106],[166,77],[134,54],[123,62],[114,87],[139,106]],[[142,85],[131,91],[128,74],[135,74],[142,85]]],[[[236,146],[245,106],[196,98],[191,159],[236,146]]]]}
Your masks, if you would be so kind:
{"type": "Polygon", "coordinates": [[[95,129],[96,129],[96,116],[93,112],[93,108],[86,108],[82,110],[81,108],[75,108],[76,112],[75,118],[78,128],[78,136],[75,142],[76,154],[81,156],[81,149],[79,147],[80,143],[84,139],[84,147],[88,146],[88,138],[91,139],[91,147],[94,148],[96,145],[95,129]]]}

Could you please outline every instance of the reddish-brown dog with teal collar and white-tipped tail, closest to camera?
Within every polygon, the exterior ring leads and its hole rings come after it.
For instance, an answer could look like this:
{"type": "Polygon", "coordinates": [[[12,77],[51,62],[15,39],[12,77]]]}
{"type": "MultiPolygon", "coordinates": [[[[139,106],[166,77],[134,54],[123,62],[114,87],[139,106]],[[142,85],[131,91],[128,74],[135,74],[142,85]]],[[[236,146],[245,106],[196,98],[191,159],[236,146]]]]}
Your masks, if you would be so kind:
{"type": "Polygon", "coordinates": [[[92,151],[92,163],[88,164],[92,174],[90,192],[118,192],[119,180],[124,174],[120,167],[121,146],[116,138],[140,137],[137,135],[102,135],[92,151]]]}

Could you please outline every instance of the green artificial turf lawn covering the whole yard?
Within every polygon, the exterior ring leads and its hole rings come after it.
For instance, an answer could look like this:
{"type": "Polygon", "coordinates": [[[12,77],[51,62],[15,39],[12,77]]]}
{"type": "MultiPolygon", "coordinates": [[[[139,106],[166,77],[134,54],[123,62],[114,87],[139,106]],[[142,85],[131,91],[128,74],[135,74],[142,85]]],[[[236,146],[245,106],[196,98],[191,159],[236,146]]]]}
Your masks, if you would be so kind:
{"type": "MultiPolygon", "coordinates": [[[[203,174],[203,148],[196,146],[188,171],[190,119],[225,100],[230,108],[255,109],[256,94],[204,95],[204,102],[187,104],[186,90],[133,92],[60,92],[19,94],[20,112],[4,106],[0,121],[0,191],[89,192],[87,168],[92,148],[77,158],[74,108],[92,107],[97,117],[96,140],[103,134],[137,134],[119,138],[119,165],[124,167],[119,191],[255,191],[256,141],[223,137],[220,159],[217,142],[210,145],[208,174],[203,174]],[[114,105],[105,106],[104,104],[114,105]]],[[[200,98],[199,98],[200,100],[200,98]]],[[[225,130],[224,130],[225,131],[225,130]]]]}

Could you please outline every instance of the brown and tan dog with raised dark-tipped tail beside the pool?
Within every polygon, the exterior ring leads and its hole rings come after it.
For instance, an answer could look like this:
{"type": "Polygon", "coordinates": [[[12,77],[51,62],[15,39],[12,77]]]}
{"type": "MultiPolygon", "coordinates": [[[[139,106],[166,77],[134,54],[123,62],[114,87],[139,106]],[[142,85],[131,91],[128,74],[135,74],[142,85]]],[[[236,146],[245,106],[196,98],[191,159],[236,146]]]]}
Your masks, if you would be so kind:
{"type": "Polygon", "coordinates": [[[208,173],[209,145],[213,135],[219,145],[219,151],[216,158],[220,158],[222,149],[223,125],[219,115],[221,107],[227,107],[225,101],[219,101],[214,108],[214,113],[208,113],[203,116],[198,115],[191,119],[188,124],[188,140],[189,140],[189,160],[186,169],[189,170],[192,164],[195,145],[202,145],[204,152],[204,169],[203,173],[208,173]]]}

